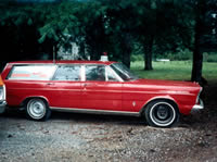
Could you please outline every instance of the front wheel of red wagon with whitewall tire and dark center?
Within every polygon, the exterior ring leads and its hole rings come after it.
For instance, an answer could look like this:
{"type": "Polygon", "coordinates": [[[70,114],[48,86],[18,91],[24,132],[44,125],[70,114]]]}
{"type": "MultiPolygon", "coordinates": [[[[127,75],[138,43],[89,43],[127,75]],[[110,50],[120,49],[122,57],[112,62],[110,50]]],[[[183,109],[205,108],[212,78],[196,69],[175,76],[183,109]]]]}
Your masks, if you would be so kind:
{"type": "Polygon", "coordinates": [[[179,121],[179,112],[173,103],[164,100],[153,101],[144,110],[149,125],[156,127],[171,127],[179,121]]]}

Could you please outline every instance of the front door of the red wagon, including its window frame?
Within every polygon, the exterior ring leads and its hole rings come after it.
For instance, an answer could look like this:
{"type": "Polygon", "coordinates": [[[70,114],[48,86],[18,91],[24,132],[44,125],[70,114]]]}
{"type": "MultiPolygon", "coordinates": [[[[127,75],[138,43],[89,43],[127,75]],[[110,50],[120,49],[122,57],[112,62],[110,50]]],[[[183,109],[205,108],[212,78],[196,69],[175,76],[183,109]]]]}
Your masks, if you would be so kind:
{"type": "Polygon", "coordinates": [[[122,111],[122,82],[111,76],[105,65],[85,65],[81,87],[84,109],[122,111]]]}

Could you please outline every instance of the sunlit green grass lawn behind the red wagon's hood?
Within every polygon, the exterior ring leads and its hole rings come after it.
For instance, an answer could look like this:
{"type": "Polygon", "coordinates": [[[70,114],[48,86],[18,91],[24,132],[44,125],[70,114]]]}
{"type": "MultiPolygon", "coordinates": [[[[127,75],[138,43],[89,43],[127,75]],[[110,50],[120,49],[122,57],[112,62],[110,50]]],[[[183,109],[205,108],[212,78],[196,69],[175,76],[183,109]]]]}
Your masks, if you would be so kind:
{"type": "MultiPolygon", "coordinates": [[[[131,62],[131,71],[141,78],[190,80],[191,61],[153,62],[153,71],[143,71],[144,62],[131,62]]],[[[204,62],[202,75],[208,82],[217,80],[217,63],[204,62]]]]}

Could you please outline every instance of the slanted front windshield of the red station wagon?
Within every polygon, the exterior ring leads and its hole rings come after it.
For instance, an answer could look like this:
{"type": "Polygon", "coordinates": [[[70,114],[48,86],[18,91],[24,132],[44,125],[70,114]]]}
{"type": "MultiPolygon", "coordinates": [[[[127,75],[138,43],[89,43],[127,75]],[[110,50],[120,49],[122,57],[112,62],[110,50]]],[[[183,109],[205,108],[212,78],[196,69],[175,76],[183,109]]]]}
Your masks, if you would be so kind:
{"type": "Polygon", "coordinates": [[[124,80],[138,79],[138,77],[132,74],[127,66],[122,63],[113,63],[111,67],[122,77],[124,80]]]}

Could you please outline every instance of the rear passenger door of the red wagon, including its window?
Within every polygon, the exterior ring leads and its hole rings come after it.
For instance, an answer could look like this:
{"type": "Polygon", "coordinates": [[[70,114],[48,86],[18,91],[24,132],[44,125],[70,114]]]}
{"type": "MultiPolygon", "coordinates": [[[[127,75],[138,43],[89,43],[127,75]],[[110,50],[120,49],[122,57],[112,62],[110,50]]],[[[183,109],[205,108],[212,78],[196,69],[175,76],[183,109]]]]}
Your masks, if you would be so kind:
{"type": "Polygon", "coordinates": [[[62,64],[48,83],[51,108],[81,108],[80,104],[80,70],[79,64],[62,64]]]}

